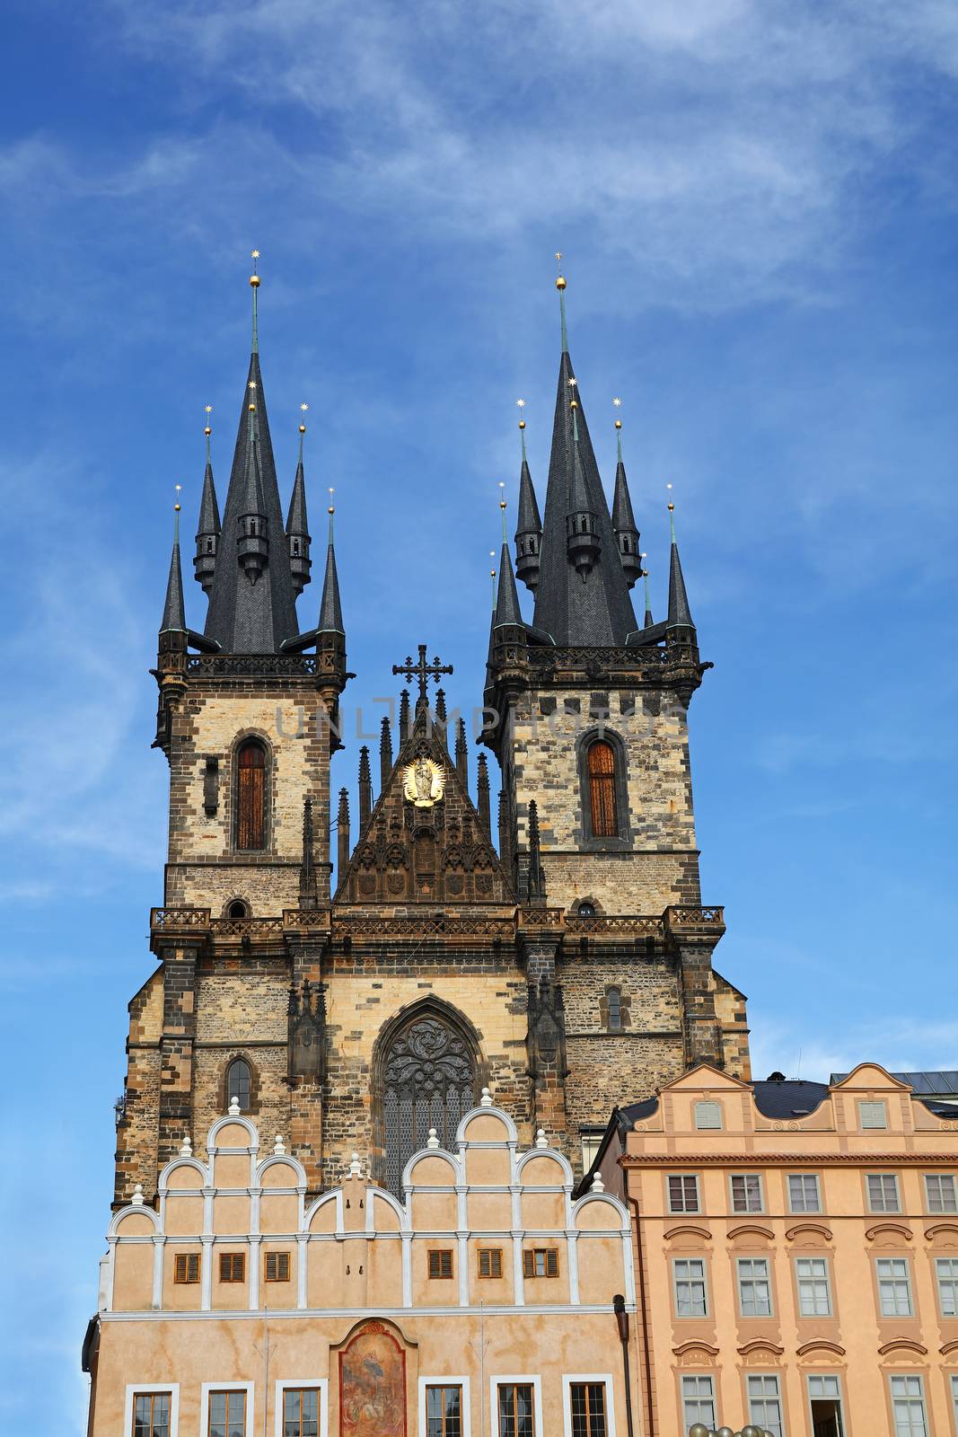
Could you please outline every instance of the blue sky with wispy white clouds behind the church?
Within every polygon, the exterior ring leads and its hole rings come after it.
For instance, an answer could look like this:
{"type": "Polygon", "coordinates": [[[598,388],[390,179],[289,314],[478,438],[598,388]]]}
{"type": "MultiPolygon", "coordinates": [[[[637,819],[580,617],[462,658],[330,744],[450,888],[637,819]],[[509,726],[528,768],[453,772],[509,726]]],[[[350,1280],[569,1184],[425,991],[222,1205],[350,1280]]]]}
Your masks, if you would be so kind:
{"type": "Polygon", "coordinates": [[[4,1430],[83,1430],[162,898],[172,486],[191,533],[208,402],[224,493],[253,247],[277,466],[289,486],[304,399],[368,713],[419,641],[478,701],[520,395],[544,491],[563,250],[659,611],[674,484],[715,662],[691,710],[704,898],[755,1069],[958,1066],[957,80],[949,0],[9,0],[4,1430]]]}

